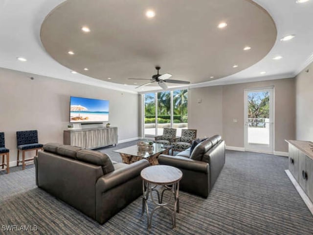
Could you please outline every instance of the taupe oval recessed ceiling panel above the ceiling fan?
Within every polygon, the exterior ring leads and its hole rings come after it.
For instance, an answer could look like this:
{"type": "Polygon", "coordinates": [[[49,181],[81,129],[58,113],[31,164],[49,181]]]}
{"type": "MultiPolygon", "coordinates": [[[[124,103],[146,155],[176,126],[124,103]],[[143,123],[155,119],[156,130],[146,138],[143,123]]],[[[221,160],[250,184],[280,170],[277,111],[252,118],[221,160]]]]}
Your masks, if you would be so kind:
{"type": "Polygon", "coordinates": [[[150,79],[156,65],[161,73],[172,73],[171,79],[191,84],[222,78],[254,65],[275,43],[272,18],[251,0],[189,3],[67,0],[45,18],[41,41],[51,57],[73,71],[138,86],[147,81],[128,78],[150,79]],[[157,12],[153,19],[144,14],[150,7],[157,12]],[[219,29],[222,20],[228,26],[219,29]],[[89,33],[81,31],[86,24],[89,33]],[[252,49],[245,51],[247,45],[252,49]]]}

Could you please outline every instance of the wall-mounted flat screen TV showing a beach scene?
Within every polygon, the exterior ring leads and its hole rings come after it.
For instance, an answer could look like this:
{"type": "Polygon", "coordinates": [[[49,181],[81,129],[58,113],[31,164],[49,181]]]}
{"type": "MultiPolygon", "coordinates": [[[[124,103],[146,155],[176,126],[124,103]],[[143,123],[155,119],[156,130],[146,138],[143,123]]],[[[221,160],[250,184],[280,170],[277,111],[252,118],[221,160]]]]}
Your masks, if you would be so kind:
{"type": "Polygon", "coordinates": [[[109,100],[70,97],[70,122],[109,120],[109,100]]]}

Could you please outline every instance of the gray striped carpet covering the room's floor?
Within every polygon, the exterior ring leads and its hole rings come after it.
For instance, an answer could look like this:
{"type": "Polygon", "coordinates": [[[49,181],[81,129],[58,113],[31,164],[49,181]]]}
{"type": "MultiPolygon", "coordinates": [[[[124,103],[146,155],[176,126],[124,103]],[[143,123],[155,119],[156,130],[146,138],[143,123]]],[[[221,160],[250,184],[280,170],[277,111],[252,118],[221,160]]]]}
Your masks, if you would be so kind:
{"type": "MultiPolygon", "coordinates": [[[[132,144],[101,151],[120,162],[112,150],[132,144]]],[[[226,164],[209,197],[180,192],[177,228],[172,229],[167,211],[157,211],[150,231],[146,217],[140,216],[141,198],[99,225],[37,188],[33,166],[13,169],[9,175],[0,175],[0,225],[37,225],[40,234],[312,235],[313,216],[284,172],[287,160],[227,151],[226,164]]]]}

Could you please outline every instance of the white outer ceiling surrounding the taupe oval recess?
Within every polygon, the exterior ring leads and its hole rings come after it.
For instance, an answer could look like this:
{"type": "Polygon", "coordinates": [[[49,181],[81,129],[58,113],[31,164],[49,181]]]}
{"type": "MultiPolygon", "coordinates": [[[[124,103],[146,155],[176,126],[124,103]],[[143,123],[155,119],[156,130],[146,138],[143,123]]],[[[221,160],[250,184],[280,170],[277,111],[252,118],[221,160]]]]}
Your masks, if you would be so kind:
{"type": "MultiPolygon", "coordinates": [[[[63,1],[30,0],[25,3],[25,0],[0,0],[0,67],[136,92],[135,86],[72,74],[70,69],[56,62],[45,51],[40,40],[41,25],[48,13],[63,1]],[[18,61],[16,58],[19,56],[27,58],[27,62],[18,61]]],[[[268,11],[276,24],[276,43],[268,55],[236,74],[188,87],[293,77],[313,61],[313,0],[302,4],[295,0],[254,1],[268,11]],[[296,37],[291,41],[281,42],[280,38],[288,34],[295,34],[296,37]],[[283,59],[272,60],[277,55],[283,56],[283,59]],[[261,71],[267,73],[260,75],[261,71]]],[[[148,91],[156,88],[145,89],[148,91]]]]}

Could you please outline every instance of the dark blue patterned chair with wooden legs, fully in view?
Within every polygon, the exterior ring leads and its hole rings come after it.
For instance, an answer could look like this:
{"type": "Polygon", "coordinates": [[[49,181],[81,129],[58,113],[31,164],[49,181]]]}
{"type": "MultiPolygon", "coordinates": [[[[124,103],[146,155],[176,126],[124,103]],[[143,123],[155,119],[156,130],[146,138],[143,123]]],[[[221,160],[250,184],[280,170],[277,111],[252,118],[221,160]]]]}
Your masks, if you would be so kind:
{"type": "Polygon", "coordinates": [[[18,165],[22,162],[22,169],[25,169],[25,162],[34,160],[34,158],[25,159],[25,152],[36,150],[37,156],[38,150],[43,150],[43,144],[38,143],[37,130],[17,131],[16,139],[18,145],[18,165]],[[22,151],[22,161],[20,161],[20,151],[22,151]]]}

